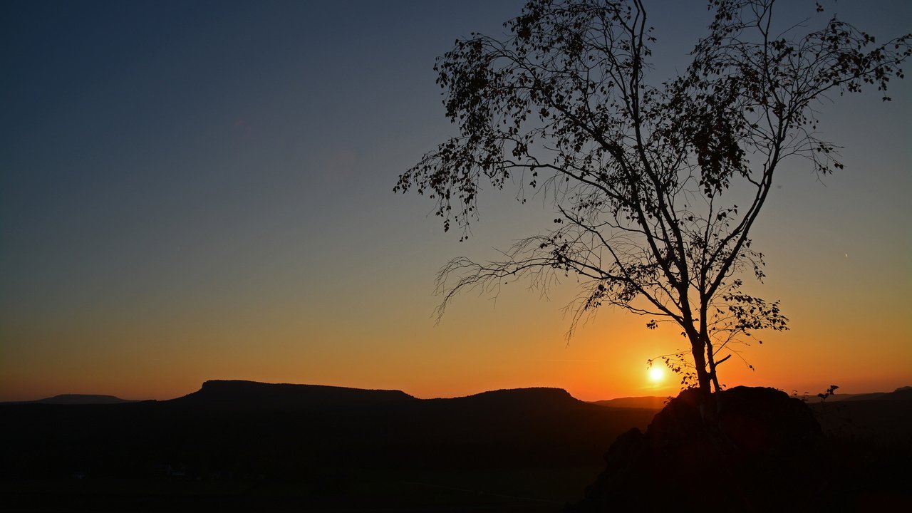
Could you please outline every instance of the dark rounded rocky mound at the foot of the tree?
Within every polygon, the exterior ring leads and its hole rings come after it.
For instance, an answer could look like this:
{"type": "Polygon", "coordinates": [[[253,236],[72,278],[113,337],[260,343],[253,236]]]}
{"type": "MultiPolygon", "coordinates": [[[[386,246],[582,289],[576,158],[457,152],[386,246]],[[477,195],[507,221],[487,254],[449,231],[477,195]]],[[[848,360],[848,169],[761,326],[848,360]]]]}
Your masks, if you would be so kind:
{"type": "Polygon", "coordinates": [[[681,393],[641,433],[621,434],[572,512],[643,508],[813,511],[824,435],[811,410],[771,388],[681,393]]]}

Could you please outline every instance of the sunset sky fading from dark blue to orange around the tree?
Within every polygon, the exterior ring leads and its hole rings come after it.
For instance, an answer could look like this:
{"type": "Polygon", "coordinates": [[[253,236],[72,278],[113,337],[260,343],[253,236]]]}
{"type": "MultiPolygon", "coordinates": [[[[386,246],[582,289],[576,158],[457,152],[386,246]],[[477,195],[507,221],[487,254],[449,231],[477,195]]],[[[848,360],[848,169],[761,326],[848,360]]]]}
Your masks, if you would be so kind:
{"type": "MultiPolygon", "coordinates": [[[[834,11],[878,38],[912,29],[912,5],[876,4],[834,11]]],[[[572,279],[547,298],[522,283],[463,295],[435,324],[443,264],[493,257],[553,218],[484,191],[460,243],[428,198],[392,192],[455,133],[435,58],[473,31],[502,34],[522,5],[0,4],[0,401],[170,399],[212,379],[677,393],[646,366],[682,347],[675,330],[604,309],[565,339],[572,279]]],[[[648,9],[670,78],[710,15],[703,2],[648,9]]],[[[891,96],[821,107],[845,171],[779,174],[752,232],[768,277],[751,287],[782,301],[791,330],[761,334],[721,382],[912,384],[908,80],[891,96]]]]}

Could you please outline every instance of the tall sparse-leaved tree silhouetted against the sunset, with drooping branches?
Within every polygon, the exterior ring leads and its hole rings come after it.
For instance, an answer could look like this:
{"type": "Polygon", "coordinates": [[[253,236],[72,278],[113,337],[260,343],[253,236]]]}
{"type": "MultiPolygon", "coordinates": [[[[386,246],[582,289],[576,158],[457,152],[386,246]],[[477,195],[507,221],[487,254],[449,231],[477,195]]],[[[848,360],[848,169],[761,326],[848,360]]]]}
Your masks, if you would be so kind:
{"type": "Polygon", "coordinates": [[[485,183],[518,182],[523,198],[525,185],[544,190],[556,217],[502,261],[451,260],[439,313],[461,290],[572,275],[583,293],[569,333],[603,305],[646,316],[651,329],[673,322],[689,350],[665,358],[680,357],[671,364],[683,382],[707,393],[720,389],[732,344],[787,329],[778,301],[743,288],[742,275],[764,276],[751,227],[783,161],[802,157],[821,174],[843,167],[816,130],[822,100],[867,86],[888,100],[912,36],[877,44],[835,17],[816,30],[809,20],[780,26],[773,3],[711,1],[689,68],[658,85],[640,0],[532,0],[504,24],[509,36],[457,41],[435,70],[460,134],[395,191],[430,195],[461,240],[485,183]]]}

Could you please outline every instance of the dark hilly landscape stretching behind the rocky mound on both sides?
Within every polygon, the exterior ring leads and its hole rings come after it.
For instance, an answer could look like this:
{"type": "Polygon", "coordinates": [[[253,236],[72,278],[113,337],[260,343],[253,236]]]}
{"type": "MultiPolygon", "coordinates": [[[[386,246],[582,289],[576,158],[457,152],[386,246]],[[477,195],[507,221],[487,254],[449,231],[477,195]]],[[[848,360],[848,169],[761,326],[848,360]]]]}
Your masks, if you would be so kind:
{"type": "MultiPolygon", "coordinates": [[[[845,510],[912,500],[907,395],[810,404],[834,484],[821,489],[843,490],[845,510]]],[[[254,382],[162,402],[6,403],[0,510],[557,512],[657,411],[559,389],[420,400],[254,382]]]]}

